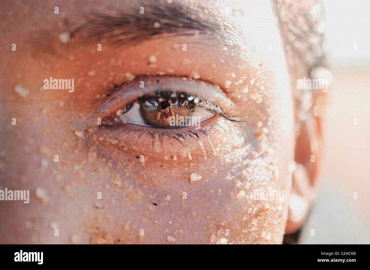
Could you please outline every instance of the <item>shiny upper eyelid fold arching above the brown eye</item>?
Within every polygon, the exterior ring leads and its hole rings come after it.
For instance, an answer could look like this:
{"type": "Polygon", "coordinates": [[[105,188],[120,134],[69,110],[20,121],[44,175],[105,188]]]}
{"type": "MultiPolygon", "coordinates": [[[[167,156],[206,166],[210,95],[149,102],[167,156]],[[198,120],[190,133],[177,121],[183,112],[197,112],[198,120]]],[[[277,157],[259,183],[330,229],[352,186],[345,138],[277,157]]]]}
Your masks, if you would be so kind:
{"type": "Polygon", "coordinates": [[[216,104],[225,113],[237,114],[235,103],[226,96],[219,86],[201,80],[183,80],[181,77],[173,76],[140,76],[134,81],[121,84],[115,87],[109,97],[102,101],[98,106],[97,113],[104,117],[121,109],[124,100],[136,100],[139,96],[154,93],[158,90],[158,83],[160,83],[161,88],[172,88],[174,91],[194,94],[200,99],[216,104]],[[144,88],[140,88],[141,81],[144,81],[144,88]],[[125,91],[123,91],[123,88],[125,91]],[[196,91],[196,94],[194,91],[196,91]]]}

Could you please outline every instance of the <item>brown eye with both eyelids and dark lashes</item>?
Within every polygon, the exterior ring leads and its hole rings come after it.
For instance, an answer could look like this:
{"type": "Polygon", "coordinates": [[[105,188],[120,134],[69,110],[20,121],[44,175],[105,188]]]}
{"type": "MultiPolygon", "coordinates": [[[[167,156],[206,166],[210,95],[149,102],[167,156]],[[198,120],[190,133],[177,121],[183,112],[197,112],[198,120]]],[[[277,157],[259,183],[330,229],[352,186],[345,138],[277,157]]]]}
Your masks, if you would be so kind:
{"type": "Polygon", "coordinates": [[[230,134],[242,136],[243,117],[223,90],[184,77],[138,77],[115,87],[99,113],[101,141],[135,153],[151,147],[164,159],[192,159],[199,150],[207,158],[230,134]]]}

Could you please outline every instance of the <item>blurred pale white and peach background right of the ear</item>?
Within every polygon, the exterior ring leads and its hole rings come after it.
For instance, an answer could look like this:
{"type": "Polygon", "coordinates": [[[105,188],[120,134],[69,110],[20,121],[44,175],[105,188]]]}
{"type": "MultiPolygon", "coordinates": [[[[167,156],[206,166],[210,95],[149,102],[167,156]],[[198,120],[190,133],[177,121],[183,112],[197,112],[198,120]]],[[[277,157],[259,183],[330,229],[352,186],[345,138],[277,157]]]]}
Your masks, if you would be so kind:
{"type": "Polygon", "coordinates": [[[369,244],[370,1],[324,6],[334,84],[327,92],[321,193],[300,243],[369,244]]]}

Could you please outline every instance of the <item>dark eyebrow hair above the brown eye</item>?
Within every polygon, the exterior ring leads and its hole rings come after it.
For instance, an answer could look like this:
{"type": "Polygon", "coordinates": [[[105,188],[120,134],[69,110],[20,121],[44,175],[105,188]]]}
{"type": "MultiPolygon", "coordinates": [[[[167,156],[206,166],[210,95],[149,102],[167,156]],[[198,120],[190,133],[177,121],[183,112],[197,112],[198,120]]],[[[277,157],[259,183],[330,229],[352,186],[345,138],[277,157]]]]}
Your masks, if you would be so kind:
{"type": "Polygon", "coordinates": [[[215,15],[205,8],[202,17],[189,6],[163,1],[151,1],[125,11],[115,11],[112,14],[93,12],[85,16],[85,21],[71,35],[82,33],[85,37],[95,40],[107,40],[112,44],[133,44],[160,35],[193,36],[208,34],[214,36],[229,36],[215,15]],[[144,8],[144,14],[140,9],[144,8]]]}

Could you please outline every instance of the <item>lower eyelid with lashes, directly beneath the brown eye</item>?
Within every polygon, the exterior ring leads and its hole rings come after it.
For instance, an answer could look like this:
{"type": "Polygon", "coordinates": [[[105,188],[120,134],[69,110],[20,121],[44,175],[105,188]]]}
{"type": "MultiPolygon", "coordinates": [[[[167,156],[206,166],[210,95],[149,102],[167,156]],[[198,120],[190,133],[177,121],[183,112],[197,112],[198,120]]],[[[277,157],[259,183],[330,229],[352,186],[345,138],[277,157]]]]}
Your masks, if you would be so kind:
{"type": "Polygon", "coordinates": [[[224,151],[223,145],[244,140],[238,124],[220,116],[213,116],[204,122],[198,130],[194,127],[143,129],[131,124],[101,127],[94,137],[98,144],[114,152],[125,151],[134,156],[144,155],[162,161],[206,159],[224,151]]]}

